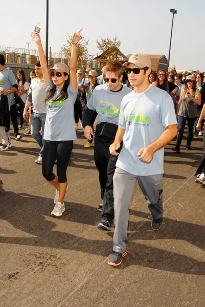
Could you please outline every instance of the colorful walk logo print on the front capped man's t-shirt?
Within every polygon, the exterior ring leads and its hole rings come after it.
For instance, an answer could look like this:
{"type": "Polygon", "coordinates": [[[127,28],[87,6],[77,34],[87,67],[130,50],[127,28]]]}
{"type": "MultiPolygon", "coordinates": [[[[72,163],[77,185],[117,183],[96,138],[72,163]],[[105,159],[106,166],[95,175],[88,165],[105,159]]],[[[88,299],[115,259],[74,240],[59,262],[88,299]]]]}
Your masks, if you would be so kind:
{"type": "Polygon", "coordinates": [[[144,116],[139,109],[136,109],[136,108],[128,109],[128,108],[126,108],[124,115],[125,115],[125,119],[126,119],[128,126],[138,125],[138,126],[147,126],[148,127],[149,124],[150,124],[150,119],[149,119],[150,117],[147,116],[147,115],[144,116]]]}

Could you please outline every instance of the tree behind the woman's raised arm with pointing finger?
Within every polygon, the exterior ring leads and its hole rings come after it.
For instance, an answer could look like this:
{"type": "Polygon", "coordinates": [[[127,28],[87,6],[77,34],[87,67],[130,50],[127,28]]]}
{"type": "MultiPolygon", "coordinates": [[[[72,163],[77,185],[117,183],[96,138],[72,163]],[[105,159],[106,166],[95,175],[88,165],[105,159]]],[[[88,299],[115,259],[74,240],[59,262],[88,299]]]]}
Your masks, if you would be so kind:
{"type": "MultiPolygon", "coordinates": [[[[67,34],[66,40],[67,43],[63,45],[62,51],[64,52],[66,58],[70,62],[72,36],[67,34]]],[[[87,60],[88,60],[87,45],[88,45],[88,40],[85,40],[84,38],[77,44],[77,67],[81,69],[87,66],[87,60]]]]}

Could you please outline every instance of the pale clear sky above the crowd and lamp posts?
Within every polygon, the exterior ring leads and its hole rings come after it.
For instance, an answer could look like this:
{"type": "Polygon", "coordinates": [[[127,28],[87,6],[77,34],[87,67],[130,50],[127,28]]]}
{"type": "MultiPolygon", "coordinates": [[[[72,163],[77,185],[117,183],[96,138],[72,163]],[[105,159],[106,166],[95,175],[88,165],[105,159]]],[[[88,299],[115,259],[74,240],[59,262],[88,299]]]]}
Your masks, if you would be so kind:
{"type": "MultiPolygon", "coordinates": [[[[174,15],[170,66],[204,72],[204,0],[49,0],[49,47],[60,52],[67,33],[83,28],[89,54],[100,54],[96,39],[116,35],[125,55],[144,52],[168,58],[172,8],[178,13],[174,15]]],[[[30,33],[40,19],[45,47],[46,0],[1,1],[0,9],[0,45],[28,48],[26,42],[31,41],[30,33]]],[[[34,48],[31,41],[30,49],[34,48]]]]}

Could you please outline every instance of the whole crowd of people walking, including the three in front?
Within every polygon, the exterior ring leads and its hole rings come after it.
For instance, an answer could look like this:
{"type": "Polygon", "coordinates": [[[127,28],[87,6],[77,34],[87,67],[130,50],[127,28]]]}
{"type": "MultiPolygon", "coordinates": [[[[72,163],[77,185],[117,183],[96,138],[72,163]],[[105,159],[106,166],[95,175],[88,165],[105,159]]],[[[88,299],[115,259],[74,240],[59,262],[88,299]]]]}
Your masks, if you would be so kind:
{"type": "MultiPolygon", "coordinates": [[[[97,118],[94,160],[102,199],[97,228],[111,230],[115,218],[108,264],[119,266],[127,254],[128,208],[137,181],[152,215],[151,228],[157,231],[162,227],[164,146],[176,136],[173,151],[180,152],[187,122],[186,149],[191,150],[192,138],[198,137],[204,123],[205,74],[156,73],[146,54],[134,53],[124,65],[109,61],[100,76],[87,68],[83,77],[83,71],[76,69],[81,30],[72,36],[70,67],[56,63],[50,69],[40,35],[35,34],[39,61],[29,82],[22,70],[16,79],[0,55],[1,147],[3,151],[11,147],[10,117],[17,141],[21,139],[18,130],[29,120],[25,135],[32,135],[40,147],[35,162],[42,164],[43,177],[55,187],[51,214],[61,216],[76,130],[84,131],[84,147],[93,146],[97,118]],[[16,106],[16,97],[24,102],[22,112],[16,106]],[[53,173],[55,161],[57,174],[53,173]]],[[[205,153],[196,171],[196,183],[205,184],[204,173],[205,153]]]]}

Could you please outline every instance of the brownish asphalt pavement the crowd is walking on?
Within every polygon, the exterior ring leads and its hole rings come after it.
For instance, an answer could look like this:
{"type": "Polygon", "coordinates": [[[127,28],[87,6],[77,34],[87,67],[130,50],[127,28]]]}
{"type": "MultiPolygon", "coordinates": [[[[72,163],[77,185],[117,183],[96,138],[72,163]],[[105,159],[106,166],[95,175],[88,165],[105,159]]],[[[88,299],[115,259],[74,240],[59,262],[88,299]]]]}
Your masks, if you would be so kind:
{"type": "MultiPolygon", "coordinates": [[[[20,130],[24,133],[25,130],[20,130]]],[[[81,130],[67,169],[66,210],[51,216],[54,188],[35,163],[31,136],[0,150],[1,307],[203,307],[205,305],[205,198],[194,173],[202,137],[180,154],[165,148],[164,224],[151,230],[145,198],[135,187],[130,205],[127,256],[107,264],[110,232],[100,231],[101,202],[94,147],[81,130]]],[[[186,136],[186,134],[185,134],[186,136]]],[[[56,166],[54,168],[56,171],[56,166]]]]}

